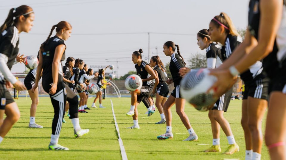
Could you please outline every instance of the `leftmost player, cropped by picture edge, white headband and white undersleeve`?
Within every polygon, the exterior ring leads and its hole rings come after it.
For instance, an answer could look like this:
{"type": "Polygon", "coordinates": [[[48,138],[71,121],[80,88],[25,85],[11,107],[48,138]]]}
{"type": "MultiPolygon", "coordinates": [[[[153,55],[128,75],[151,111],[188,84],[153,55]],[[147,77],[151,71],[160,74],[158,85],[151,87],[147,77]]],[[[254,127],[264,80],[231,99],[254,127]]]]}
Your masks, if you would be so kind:
{"type": "Polygon", "coordinates": [[[26,89],[10,70],[19,52],[19,33],[29,33],[34,25],[34,18],[33,9],[22,5],[10,9],[6,20],[0,27],[0,143],[20,118],[18,105],[7,88],[14,86],[19,91],[26,89]]]}

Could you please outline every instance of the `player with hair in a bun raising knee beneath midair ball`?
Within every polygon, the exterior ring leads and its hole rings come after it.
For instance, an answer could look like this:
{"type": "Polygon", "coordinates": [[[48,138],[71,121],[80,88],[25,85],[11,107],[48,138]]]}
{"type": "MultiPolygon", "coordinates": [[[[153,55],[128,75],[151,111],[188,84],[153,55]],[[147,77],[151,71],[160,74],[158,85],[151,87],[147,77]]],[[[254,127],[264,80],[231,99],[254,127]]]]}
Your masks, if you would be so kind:
{"type": "Polygon", "coordinates": [[[157,77],[153,69],[150,67],[150,65],[142,60],[142,53],[143,53],[142,49],[139,49],[139,51],[135,51],[132,54],[132,61],[135,64],[137,75],[141,77],[143,84],[141,89],[131,92],[131,107],[130,110],[126,113],[126,116],[133,117],[134,125],[128,127],[129,129],[134,129],[134,128],[140,129],[138,124],[138,110],[137,110],[137,106],[140,104],[140,102],[144,103],[144,105],[149,110],[148,112],[153,111],[150,107],[150,102],[148,100],[149,95],[151,94],[153,88],[151,85],[147,85],[147,81],[156,79],[157,77]],[[149,78],[148,74],[150,74],[149,78]]]}

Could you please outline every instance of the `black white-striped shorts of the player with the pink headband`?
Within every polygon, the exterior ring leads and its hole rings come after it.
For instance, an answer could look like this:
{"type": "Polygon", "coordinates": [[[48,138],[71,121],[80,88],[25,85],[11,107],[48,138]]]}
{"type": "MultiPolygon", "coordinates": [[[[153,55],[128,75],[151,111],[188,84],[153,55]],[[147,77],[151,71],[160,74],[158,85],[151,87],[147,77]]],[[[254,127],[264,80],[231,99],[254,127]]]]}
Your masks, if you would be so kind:
{"type": "Polygon", "coordinates": [[[245,83],[243,100],[247,100],[248,96],[268,100],[268,84],[269,78],[259,74],[251,83],[245,83]]]}

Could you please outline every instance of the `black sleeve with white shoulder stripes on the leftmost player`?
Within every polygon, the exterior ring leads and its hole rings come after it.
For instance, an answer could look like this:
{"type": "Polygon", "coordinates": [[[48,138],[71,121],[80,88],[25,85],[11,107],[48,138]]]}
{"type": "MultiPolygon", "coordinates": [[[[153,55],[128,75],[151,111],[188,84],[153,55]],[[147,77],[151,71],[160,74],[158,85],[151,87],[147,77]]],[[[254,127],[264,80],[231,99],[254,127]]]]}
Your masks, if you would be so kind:
{"type": "Polygon", "coordinates": [[[0,53],[6,55],[7,57],[9,57],[12,53],[12,49],[13,49],[13,44],[11,43],[11,41],[13,39],[16,39],[16,35],[13,34],[13,27],[9,27],[7,28],[7,30],[4,30],[2,32],[1,35],[1,39],[0,39],[0,53]],[[6,34],[4,34],[6,33],[6,34]],[[4,36],[3,36],[4,34],[4,36]]]}

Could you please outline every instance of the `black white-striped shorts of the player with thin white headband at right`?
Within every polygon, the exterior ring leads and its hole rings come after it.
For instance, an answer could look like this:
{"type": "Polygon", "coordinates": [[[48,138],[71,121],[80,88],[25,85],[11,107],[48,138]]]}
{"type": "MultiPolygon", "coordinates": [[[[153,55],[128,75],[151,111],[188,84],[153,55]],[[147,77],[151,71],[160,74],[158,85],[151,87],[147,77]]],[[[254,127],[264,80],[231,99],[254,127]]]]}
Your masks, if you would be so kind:
{"type": "Polygon", "coordinates": [[[218,110],[218,111],[225,111],[226,112],[227,108],[229,107],[229,102],[231,99],[232,90],[233,90],[233,87],[231,87],[231,89],[229,89],[226,93],[224,93],[222,96],[220,96],[220,99],[218,99],[216,101],[212,110],[218,110]]]}

